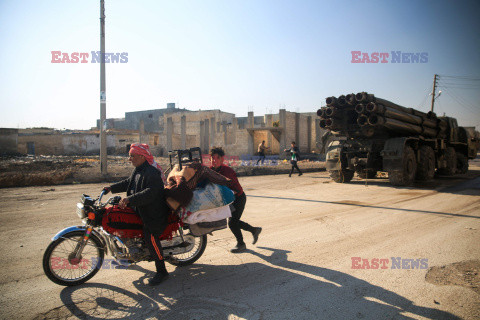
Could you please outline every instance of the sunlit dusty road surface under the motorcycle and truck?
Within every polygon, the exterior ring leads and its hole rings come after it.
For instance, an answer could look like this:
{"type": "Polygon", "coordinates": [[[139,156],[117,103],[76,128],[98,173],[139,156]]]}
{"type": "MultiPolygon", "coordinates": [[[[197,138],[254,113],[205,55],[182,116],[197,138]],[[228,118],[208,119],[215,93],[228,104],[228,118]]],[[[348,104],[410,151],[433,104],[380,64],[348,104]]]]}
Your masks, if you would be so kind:
{"type": "Polygon", "coordinates": [[[0,318],[478,319],[480,166],[471,165],[410,188],[335,184],[326,172],[243,177],[243,218],[263,227],[257,245],[245,234],[249,250],[231,254],[233,235],[215,232],[197,263],[168,265],[170,279],[154,288],[153,263],[100,270],[74,288],[43,274],[50,238],[79,223],[81,193],[102,184],[3,189],[0,318]],[[366,268],[380,259],[386,268],[366,268]]]}

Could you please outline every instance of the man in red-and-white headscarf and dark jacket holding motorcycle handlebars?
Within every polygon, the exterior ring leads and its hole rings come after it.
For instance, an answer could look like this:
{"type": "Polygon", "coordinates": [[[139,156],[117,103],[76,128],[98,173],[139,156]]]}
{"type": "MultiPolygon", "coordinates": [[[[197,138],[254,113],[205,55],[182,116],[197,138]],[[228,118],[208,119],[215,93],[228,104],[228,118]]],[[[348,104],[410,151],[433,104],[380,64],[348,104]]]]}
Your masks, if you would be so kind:
{"type": "Polygon", "coordinates": [[[110,191],[127,192],[127,196],[120,200],[120,208],[130,206],[142,218],[145,243],[156,267],[156,274],[149,279],[149,285],[155,286],[168,278],[160,244],[160,236],[167,226],[169,214],[165,201],[164,175],[147,144],[132,144],[129,160],[135,167],[130,177],[104,187],[104,191],[105,194],[110,191]]]}

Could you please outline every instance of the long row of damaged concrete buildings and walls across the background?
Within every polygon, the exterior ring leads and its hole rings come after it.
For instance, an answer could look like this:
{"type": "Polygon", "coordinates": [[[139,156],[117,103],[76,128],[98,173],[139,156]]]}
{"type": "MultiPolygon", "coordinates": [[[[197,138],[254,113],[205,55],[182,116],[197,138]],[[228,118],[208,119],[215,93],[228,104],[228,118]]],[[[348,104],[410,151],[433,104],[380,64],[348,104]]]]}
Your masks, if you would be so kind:
{"type": "MultiPolygon", "coordinates": [[[[221,110],[190,111],[169,103],[167,108],[125,113],[125,118],[107,119],[108,154],[126,154],[132,143],[148,143],[156,156],[169,150],[200,147],[204,153],[223,147],[232,156],[254,155],[265,140],[270,154],[296,141],[303,154],[320,153],[321,137],[316,113],[289,112],[236,117],[221,110]]],[[[100,121],[92,130],[0,129],[3,154],[98,155],[100,121]]]]}

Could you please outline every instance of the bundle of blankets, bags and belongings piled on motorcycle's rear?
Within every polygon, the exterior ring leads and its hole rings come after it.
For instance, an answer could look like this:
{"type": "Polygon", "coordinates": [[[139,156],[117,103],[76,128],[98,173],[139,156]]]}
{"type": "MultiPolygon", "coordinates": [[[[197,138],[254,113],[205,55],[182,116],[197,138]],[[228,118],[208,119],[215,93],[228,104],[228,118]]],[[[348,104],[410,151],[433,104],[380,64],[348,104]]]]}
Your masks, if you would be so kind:
{"type": "Polygon", "coordinates": [[[182,169],[175,165],[165,187],[167,204],[182,222],[188,223],[193,235],[200,236],[225,229],[232,216],[229,205],[235,200],[231,180],[193,162],[182,169]]]}

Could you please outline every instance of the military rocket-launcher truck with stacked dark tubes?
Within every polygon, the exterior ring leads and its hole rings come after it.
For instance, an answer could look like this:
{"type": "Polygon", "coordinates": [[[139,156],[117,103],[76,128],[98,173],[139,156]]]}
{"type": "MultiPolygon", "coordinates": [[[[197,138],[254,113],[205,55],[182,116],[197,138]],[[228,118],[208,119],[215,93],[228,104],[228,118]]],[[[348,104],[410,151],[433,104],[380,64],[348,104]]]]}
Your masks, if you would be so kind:
{"type": "Polygon", "coordinates": [[[437,117],[360,92],[326,99],[320,127],[334,136],[326,168],[335,182],[387,172],[392,185],[468,171],[478,141],[451,117],[437,117]]]}

